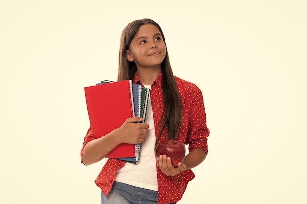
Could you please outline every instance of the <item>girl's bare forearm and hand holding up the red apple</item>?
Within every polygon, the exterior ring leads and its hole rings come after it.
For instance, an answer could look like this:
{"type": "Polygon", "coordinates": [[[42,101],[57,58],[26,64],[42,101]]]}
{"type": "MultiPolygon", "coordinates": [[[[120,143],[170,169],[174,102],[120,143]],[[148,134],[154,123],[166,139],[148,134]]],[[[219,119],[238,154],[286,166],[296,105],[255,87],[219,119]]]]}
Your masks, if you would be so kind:
{"type": "Polygon", "coordinates": [[[206,157],[207,153],[203,149],[194,149],[185,156],[183,162],[178,162],[176,168],[173,167],[171,158],[166,157],[166,155],[160,155],[160,157],[156,159],[156,163],[164,174],[167,176],[175,176],[182,171],[198,166],[206,157]]]}

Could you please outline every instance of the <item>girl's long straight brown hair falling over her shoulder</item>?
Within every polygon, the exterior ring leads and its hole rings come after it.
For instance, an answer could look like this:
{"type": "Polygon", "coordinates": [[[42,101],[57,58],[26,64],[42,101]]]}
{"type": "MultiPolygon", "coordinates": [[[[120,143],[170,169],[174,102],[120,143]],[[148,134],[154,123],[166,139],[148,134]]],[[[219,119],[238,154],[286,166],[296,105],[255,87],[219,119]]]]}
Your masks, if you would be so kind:
{"type": "MultiPolygon", "coordinates": [[[[137,34],[139,28],[147,23],[152,23],[161,32],[163,41],[165,43],[164,34],[158,23],[151,19],[135,20],[129,23],[123,30],[120,40],[119,50],[119,67],[118,67],[118,81],[131,79],[133,80],[136,73],[136,64],[127,59],[126,50],[129,50],[130,43],[137,34]]],[[[166,47],[166,43],[165,43],[166,47]]],[[[180,124],[182,121],[182,102],[179,91],[175,82],[169,56],[166,48],[166,55],[161,63],[162,68],[162,95],[163,95],[163,113],[159,122],[160,132],[157,137],[159,140],[163,129],[166,127],[168,139],[176,139],[179,133],[180,124]]]]}

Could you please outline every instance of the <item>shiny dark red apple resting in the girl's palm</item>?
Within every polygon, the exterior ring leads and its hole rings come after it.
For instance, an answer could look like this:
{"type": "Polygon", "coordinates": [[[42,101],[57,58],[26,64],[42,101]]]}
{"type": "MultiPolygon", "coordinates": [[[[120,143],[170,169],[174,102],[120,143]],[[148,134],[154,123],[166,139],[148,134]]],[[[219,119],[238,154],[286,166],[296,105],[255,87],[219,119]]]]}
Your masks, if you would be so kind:
{"type": "Polygon", "coordinates": [[[161,142],[155,148],[155,156],[160,155],[170,157],[172,165],[177,167],[178,162],[182,162],[185,157],[185,145],[175,139],[161,142]]]}

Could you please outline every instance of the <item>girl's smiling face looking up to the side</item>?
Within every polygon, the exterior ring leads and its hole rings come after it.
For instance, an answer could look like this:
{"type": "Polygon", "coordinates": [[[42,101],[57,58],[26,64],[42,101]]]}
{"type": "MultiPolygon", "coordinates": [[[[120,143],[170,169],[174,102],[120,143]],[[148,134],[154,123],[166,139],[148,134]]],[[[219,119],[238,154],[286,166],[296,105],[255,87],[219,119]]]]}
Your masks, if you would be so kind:
{"type": "Polygon", "coordinates": [[[166,55],[166,46],[159,29],[151,24],[142,25],[127,51],[127,59],[139,68],[159,68],[166,55]]]}

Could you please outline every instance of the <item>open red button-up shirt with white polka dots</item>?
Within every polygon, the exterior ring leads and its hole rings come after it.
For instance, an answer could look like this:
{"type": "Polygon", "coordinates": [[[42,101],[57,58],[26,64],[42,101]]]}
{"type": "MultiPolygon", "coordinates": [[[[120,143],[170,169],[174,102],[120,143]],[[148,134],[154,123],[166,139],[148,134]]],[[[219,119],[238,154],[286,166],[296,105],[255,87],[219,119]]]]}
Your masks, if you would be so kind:
{"type": "MultiPolygon", "coordinates": [[[[156,135],[159,133],[158,123],[162,116],[163,101],[161,90],[162,75],[160,74],[151,86],[151,103],[153,107],[153,120],[156,135]]],[[[179,130],[177,139],[185,144],[188,144],[188,150],[192,151],[201,148],[208,152],[207,137],[209,136],[209,129],[206,124],[206,114],[203,103],[203,96],[200,89],[193,83],[175,77],[178,90],[182,100],[183,118],[182,126],[179,130]]],[[[136,74],[134,83],[140,83],[139,77],[136,74]]],[[[85,145],[96,139],[95,134],[89,128],[81,150],[81,158],[85,145]]],[[[166,128],[158,141],[158,143],[167,140],[166,128]]],[[[107,195],[115,180],[115,174],[125,164],[124,161],[117,159],[108,159],[103,166],[101,172],[97,176],[95,183],[102,189],[102,192],[107,195]]],[[[166,176],[157,167],[158,178],[158,204],[178,202],[187,187],[189,181],[195,177],[191,170],[181,172],[176,176],[166,176]]]]}

